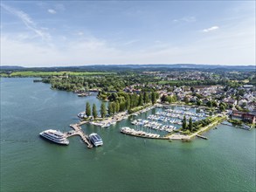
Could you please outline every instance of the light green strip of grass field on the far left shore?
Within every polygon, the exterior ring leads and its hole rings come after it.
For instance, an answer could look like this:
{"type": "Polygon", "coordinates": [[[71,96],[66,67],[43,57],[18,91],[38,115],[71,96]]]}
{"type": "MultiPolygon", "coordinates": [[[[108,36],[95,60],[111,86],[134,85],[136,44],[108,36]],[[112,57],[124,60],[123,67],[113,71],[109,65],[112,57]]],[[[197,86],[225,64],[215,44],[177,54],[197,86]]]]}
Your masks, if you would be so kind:
{"type": "MultiPolygon", "coordinates": [[[[109,75],[116,74],[116,72],[11,72],[9,77],[46,77],[46,76],[61,76],[61,75],[71,75],[71,76],[88,76],[88,75],[109,75]]],[[[5,73],[0,74],[1,77],[7,77],[5,73]]]]}

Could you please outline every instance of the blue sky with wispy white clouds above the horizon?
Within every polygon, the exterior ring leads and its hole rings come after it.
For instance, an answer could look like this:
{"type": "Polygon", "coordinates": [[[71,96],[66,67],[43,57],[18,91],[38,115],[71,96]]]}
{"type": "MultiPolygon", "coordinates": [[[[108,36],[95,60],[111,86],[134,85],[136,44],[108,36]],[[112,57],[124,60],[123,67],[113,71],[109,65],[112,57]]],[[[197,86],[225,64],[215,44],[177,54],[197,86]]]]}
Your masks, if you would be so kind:
{"type": "Polygon", "coordinates": [[[255,1],[4,1],[1,65],[255,65],[255,1]]]}

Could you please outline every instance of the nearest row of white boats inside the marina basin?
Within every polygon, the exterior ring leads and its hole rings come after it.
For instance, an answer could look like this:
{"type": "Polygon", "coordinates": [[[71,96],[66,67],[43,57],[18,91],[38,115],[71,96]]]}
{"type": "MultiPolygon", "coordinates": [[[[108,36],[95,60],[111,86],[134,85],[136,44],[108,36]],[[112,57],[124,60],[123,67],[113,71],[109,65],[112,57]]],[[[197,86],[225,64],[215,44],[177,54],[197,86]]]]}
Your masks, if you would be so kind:
{"type": "Polygon", "coordinates": [[[159,131],[166,131],[166,132],[173,132],[176,127],[173,127],[171,125],[163,125],[162,123],[156,122],[156,121],[149,121],[149,120],[133,120],[131,124],[135,126],[142,126],[142,127],[148,127],[159,131]]]}

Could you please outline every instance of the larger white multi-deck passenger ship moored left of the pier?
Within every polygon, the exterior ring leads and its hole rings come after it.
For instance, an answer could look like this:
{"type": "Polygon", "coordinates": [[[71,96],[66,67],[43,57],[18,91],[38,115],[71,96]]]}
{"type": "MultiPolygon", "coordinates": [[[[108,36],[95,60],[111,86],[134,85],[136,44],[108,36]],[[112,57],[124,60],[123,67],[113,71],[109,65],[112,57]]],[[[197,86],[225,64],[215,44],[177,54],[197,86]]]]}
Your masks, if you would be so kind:
{"type": "Polygon", "coordinates": [[[40,136],[52,142],[59,143],[61,145],[68,145],[69,141],[66,139],[66,135],[60,131],[48,129],[40,133],[40,136]]]}

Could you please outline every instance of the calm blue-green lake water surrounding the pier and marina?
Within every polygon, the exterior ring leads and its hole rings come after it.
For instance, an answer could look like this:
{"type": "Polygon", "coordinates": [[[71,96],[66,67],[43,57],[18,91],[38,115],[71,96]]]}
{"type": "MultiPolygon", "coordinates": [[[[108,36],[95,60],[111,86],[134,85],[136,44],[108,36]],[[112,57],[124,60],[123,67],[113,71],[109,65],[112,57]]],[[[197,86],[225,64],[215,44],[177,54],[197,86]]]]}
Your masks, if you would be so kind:
{"type": "Polygon", "coordinates": [[[79,137],[67,147],[38,137],[48,128],[71,130],[86,101],[100,108],[93,96],[1,79],[1,191],[255,191],[255,129],[219,125],[208,141],[169,142],[120,134],[129,120],[85,125],[104,141],[93,149],[79,137]]]}

